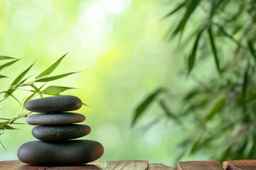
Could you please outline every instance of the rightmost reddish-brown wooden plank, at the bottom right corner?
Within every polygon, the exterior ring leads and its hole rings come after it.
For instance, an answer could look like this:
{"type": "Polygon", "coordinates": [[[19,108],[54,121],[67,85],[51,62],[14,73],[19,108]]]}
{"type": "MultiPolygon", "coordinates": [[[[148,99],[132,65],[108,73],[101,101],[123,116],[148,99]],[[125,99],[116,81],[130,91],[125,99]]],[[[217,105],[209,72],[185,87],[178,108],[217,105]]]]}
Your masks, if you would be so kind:
{"type": "Polygon", "coordinates": [[[238,160],[223,162],[223,167],[227,170],[255,170],[256,160],[238,160]]]}

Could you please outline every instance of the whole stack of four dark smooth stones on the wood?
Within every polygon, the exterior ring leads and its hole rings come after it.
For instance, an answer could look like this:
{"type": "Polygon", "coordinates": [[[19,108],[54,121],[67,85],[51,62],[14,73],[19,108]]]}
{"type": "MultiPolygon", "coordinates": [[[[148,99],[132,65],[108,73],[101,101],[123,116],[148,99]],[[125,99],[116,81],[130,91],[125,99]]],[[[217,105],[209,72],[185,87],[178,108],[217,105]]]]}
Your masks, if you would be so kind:
{"type": "Polygon", "coordinates": [[[93,140],[72,140],[90,133],[87,125],[78,125],[85,116],[68,111],[78,110],[82,101],[75,96],[53,96],[28,101],[28,111],[41,114],[29,115],[26,121],[38,125],[32,130],[36,139],[18,149],[18,159],[32,165],[80,165],[99,159],[104,148],[93,140]]]}

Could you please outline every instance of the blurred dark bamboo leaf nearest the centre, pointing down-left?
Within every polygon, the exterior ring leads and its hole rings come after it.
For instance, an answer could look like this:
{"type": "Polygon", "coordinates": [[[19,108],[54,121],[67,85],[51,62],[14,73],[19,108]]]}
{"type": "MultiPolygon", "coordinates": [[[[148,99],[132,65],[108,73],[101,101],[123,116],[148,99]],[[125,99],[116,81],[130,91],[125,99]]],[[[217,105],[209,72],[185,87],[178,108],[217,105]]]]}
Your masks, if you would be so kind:
{"type": "Polygon", "coordinates": [[[149,94],[149,96],[147,96],[146,99],[136,108],[134,117],[132,120],[132,126],[135,125],[138,118],[144,113],[146,108],[148,108],[151,105],[151,103],[153,103],[153,101],[156,99],[156,97],[159,96],[159,94],[161,94],[161,92],[163,91],[164,89],[160,88],[154,91],[152,94],[149,94]]]}

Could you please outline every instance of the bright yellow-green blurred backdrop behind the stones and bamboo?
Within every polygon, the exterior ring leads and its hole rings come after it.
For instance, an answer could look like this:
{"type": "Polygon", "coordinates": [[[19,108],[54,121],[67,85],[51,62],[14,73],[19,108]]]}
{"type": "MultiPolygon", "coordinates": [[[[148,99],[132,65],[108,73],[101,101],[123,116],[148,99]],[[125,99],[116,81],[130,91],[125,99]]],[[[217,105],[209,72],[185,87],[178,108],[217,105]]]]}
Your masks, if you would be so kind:
{"type": "MultiPolygon", "coordinates": [[[[182,57],[172,55],[175,42],[164,40],[170,21],[162,17],[170,7],[164,0],[0,0],[0,55],[23,57],[1,72],[9,79],[0,80],[0,89],[5,90],[35,60],[31,75],[69,52],[53,75],[82,72],[48,85],[76,87],[63,94],[78,96],[92,106],[77,111],[92,128],[82,139],[104,145],[102,160],[171,164],[183,133],[169,120],[143,128],[161,114],[157,106],[131,128],[133,111],[146,94],[158,86],[183,88],[177,77],[182,57]]],[[[22,100],[29,94],[16,91],[15,95],[22,100]]],[[[2,108],[0,118],[13,118],[21,111],[13,98],[2,108]]],[[[35,140],[31,125],[15,127],[19,130],[6,130],[0,137],[7,149],[0,148],[1,161],[17,159],[18,147],[35,140]]]]}

